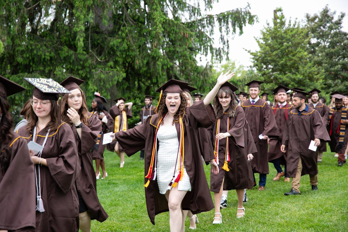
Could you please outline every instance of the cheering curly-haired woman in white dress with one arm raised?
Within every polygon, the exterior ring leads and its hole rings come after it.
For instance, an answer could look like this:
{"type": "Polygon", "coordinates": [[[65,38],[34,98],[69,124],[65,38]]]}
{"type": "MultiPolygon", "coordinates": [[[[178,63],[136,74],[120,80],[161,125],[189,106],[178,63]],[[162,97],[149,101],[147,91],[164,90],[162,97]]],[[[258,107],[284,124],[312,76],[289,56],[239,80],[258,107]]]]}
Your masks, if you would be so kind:
{"type": "MultiPolygon", "coordinates": [[[[182,88],[189,83],[169,80],[156,90],[161,92],[158,114],[147,118],[143,125],[115,134],[129,156],[145,147],[148,214],[154,224],[156,214],[169,211],[171,232],[184,231],[182,210],[197,214],[214,207],[201,161],[197,128],[207,128],[215,121],[210,102],[220,86],[234,75],[229,72],[221,73],[205,99],[189,108],[182,94],[182,88]]],[[[211,163],[212,171],[218,173],[216,162],[212,159],[211,163]]]]}

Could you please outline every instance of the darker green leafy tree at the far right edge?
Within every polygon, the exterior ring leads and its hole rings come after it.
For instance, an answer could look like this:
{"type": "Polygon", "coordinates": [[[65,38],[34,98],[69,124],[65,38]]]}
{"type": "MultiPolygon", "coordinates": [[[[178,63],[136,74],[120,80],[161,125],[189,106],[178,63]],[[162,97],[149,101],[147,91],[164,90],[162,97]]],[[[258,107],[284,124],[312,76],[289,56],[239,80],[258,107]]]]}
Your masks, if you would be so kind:
{"type": "Polygon", "coordinates": [[[348,33],[342,31],[345,13],[335,20],[335,11],[328,6],[313,16],[306,15],[306,27],[311,38],[308,46],[314,64],[324,69],[326,93],[348,91],[348,33]]]}

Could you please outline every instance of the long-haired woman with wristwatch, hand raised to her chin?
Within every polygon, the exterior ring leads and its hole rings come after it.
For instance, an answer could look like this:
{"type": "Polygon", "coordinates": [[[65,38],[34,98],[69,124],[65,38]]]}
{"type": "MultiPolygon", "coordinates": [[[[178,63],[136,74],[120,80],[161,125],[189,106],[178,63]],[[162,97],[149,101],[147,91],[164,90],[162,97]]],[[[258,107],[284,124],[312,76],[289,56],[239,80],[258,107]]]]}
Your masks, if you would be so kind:
{"type": "Polygon", "coordinates": [[[68,77],[61,85],[71,93],[64,94],[60,102],[61,119],[70,125],[75,136],[81,171],[76,179],[79,197],[79,222],[82,232],[90,232],[90,220],[103,222],[108,218],[97,196],[97,182],[93,168],[92,152],[102,123],[88,112],[86,95],[80,86],[84,81],[68,77]]]}

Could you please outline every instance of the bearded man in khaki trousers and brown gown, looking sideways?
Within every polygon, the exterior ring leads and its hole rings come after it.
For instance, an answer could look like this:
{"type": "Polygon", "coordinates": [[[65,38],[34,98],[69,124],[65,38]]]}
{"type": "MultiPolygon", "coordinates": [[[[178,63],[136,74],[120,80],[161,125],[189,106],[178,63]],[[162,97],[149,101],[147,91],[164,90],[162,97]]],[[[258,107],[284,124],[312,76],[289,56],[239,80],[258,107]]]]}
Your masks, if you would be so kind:
{"type": "Polygon", "coordinates": [[[301,176],[307,174],[312,190],[318,189],[317,153],[308,147],[311,140],[315,141],[315,146],[321,141],[330,141],[319,112],[306,105],[306,95],[309,94],[296,90],[292,101],[295,109],[290,112],[283,133],[280,150],[287,151],[286,171],[287,176],[292,177],[291,191],[284,195],[300,194],[301,176]]]}

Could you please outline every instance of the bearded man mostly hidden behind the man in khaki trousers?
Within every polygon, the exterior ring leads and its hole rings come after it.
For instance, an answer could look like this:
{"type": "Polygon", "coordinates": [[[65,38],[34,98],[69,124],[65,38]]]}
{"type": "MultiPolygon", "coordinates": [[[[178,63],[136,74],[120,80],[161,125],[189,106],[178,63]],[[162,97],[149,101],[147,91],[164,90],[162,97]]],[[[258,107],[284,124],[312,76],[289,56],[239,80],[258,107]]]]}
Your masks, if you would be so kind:
{"type": "MultiPolygon", "coordinates": [[[[314,88],[309,91],[309,94],[311,94],[312,103],[309,103],[308,106],[312,107],[313,109],[317,110],[321,117],[324,117],[326,112],[329,111],[329,107],[327,107],[325,104],[319,102],[319,93],[321,93],[320,90],[314,88]]],[[[323,159],[323,152],[326,152],[326,143],[322,142],[317,149],[318,152],[318,163],[322,162],[323,159]]]]}

